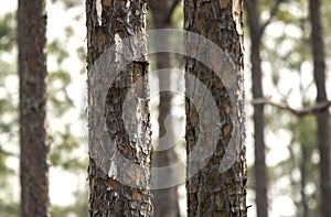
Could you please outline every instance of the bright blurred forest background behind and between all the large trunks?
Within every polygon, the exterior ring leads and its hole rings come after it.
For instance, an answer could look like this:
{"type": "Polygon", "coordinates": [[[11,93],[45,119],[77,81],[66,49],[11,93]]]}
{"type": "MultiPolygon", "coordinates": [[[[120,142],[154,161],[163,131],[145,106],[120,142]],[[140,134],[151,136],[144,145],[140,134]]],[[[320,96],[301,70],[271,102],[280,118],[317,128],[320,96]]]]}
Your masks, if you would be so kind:
{"type": "MultiPolygon", "coordinates": [[[[321,6],[325,89],[329,96],[331,50],[327,47],[331,45],[330,3],[330,0],[324,0],[321,6]]],[[[0,9],[0,216],[10,217],[19,216],[20,210],[17,2],[7,1],[3,4],[0,9]]],[[[88,213],[84,7],[83,0],[47,2],[47,138],[51,145],[50,194],[54,217],[81,217],[88,213]]],[[[167,28],[182,29],[182,7],[179,1],[167,28]]],[[[252,205],[248,216],[256,216],[257,207],[265,209],[258,210],[260,216],[265,216],[261,214],[266,210],[271,217],[322,216],[322,163],[317,113],[321,108],[328,110],[325,108],[330,101],[316,102],[312,12],[309,1],[305,0],[245,2],[247,205],[252,205]],[[254,116],[254,108],[260,112],[254,116]],[[260,196],[259,200],[256,195],[260,196]]],[[[160,28],[153,25],[154,22],[149,11],[148,28],[160,28]]],[[[151,56],[151,72],[156,67],[154,56],[151,56]]],[[[175,76],[170,79],[175,80],[175,76]]],[[[157,91],[157,83],[158,75],[152,73],[151,91],[157,91]]],[[[185,155],[183,100],[183,97],[174,96],[171,111],[173,131],[179,132],[175,133],[179,155],[185,155]]],[[[152,96],[153,143],[157,143],[159,129],[158,105],[159,99],[152,96]]],[[[327,131],[329,133],[330,128],[327,131]]],[[[328,166],[330,170],[330,153],[328,166]]],[[[325,182],[330,183],[330,180],[325,182]]],[[[184,186],[179,186],[178,191],[181,214],[184,215],[184,186]]]]}

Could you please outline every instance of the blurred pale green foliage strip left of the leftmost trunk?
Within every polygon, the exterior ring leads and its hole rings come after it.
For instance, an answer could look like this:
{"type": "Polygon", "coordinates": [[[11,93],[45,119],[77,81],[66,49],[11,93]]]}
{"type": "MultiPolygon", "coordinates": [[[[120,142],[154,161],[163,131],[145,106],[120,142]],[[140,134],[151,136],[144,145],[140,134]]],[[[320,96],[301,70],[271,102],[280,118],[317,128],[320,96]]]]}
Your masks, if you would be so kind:
{"type": "Polygon", "coordinates": [[[8,165],[18,133],[18,90],[13,89],[15,66],[11,62],[15,43],[14,17],[0,18],[0,216],[18,216],[18,204],[13,200],[12,180],[15,171],[8,165]],[[8,85],[11,82],[13,84],[8,85]],[[9,88],[10,87],[10,88],[9,88]]]}

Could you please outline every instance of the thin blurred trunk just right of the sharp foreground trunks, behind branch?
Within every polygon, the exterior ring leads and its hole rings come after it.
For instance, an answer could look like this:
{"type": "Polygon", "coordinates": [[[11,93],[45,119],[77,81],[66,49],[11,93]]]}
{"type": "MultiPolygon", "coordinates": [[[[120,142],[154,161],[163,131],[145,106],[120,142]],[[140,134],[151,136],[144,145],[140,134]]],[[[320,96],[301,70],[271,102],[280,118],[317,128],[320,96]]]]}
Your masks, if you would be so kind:
{"type": "MultiPolygon", "coordinates": [[[[263,98],[263,73],[260,58],[261,25],[259,23],[258,0],[245,1],[250,37],[252,88],[253,98],[263,98]]],[[[257,217],[268,217],[268,175],[265,147],[264,105],[254,105],[254,188],[257,217]]]]}

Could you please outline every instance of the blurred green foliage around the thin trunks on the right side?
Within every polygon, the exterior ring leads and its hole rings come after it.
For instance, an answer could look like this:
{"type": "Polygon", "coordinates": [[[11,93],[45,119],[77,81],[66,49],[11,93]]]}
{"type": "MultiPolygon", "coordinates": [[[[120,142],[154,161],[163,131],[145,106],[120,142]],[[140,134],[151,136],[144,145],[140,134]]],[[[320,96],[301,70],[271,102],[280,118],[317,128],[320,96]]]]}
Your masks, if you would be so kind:
{"type": "MultiPolygon", "coordinates": [[[[259,1],[261,24],[269,19],[270,10],[275,2],[268,0],[259,1]]],[[[331,33],[331,8],[328,2],[330,3],[331,1],[322,2],[322,18],[325,52],[330,56],[331,51],[327,47],[331,44],[331,39],[328,37],[331,33]]],[[[244,14],[244,17],[246,15],[244,14]]],[[[310,34],[308,1],[282,1],[261,40],[266,97],[271,97],[271,100],[293,108],[298,108],[300,105],[307,107],[314,104],[316,93],[312,87],[310,34]],[[292,79],[293,77],[298,79],[292,79]],[[292,101],[296,102],[292,104],[292,101]]],[[[269,133],[277,134],[279,130],[286,130],[291,134],[290,143],[282,144],[288,145],[290,156],[269,167],[270,192],[274,192],[274,194],[277,192],[276,196],[287,195],[289,198],[292,198],[293,204],[297,206],[296,216],[302,216],[302,186],[300,182],[302,165],[305,165],[307,173],[305,193],[309,206],[309,216],[319,216],[319,152],[316,138],[316,117],[298,118],[287,110],[280,110],[270,106],[266,106],[265,111],[267,123],[266,138],[269,133]],[[305,156],[303,152],[306,153],[305,156]],[[282,184],[279,187],[279,183],[285,181],[289,184],[282,184]]],[[[276,145],[276,142],[273,145],[276,145]]],[[[250,180],[249,173],[252,173],[252,170],[248,169],[248,178],[250,180]]]]}

